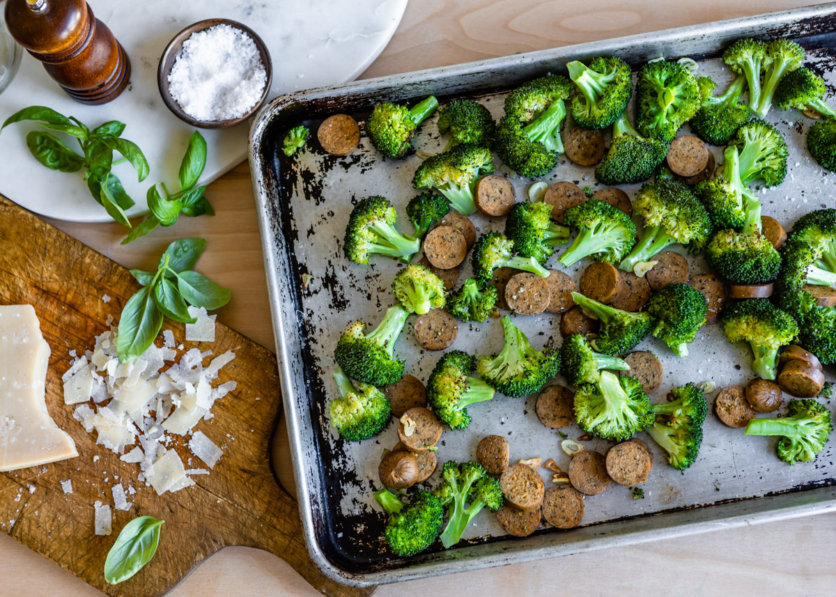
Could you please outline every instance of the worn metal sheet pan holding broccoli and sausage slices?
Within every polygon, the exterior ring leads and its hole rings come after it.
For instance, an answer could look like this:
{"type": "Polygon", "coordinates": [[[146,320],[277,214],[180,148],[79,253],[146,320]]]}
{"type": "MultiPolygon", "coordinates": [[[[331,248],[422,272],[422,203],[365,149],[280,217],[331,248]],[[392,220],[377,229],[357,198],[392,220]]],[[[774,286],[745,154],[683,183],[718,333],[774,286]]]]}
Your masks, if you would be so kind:
{"type": "MultiPolygon", "coordinates": [[[[634,67],[660,56],[689,56],[700,63],[701,73],[715,77],[722,88],[731,75],[721,67],[718,52],[742,37],[797,39],[807,48],[812,68],[833,90],[836,4],[827,4],[313,89],[274,99],[260,112],[250,133],[250,164],[284,411],[305,540],[325,574],[344,584],[378,584],[836,509],[836,441],[831,440],[816,462],[789,467],[774,456],[769,438],[743,436],[741,430],[721,426],[709,416],[701,457],[691,469],[682,474],[668,467],[658,446],[645,437],[655,452],[645,498],[633,500],[626,487],[612,484],[586,499],[586,517],[580,528],[558,531],[543,523],[528,538],[512,538],[502,533],[494,517],[483,514],[468,528],[466,542],[456,549],[392,559],[380,543],[383,522],[371,506],[370,492],[377,487],[380,453],[397,441],[394,425],[375,439],[349,443],[337,436],[327,417],[328,397],[335,391],[329,375],[334,366],[332,352],[341,330],[353,319],[376,324],[395,300],[390,283],[398,265],[393,260],[378,258],[370,266],[359,266],[344,258],[346,219],[354,201],[381,194],[395,204],[400,227],[408,230],[403,209],[415,194],[410,181],[420,158],[383,160],[364,138],[349,156],[328,156],[313,140],[297,160],[287,161],[278,148],[289,126],[303,121],[316,130],[319,121],[337,112],[354,115],[362,124],[370,107],[382,99],[411,101],[427,94],[436,94],[442,103],[453,97],[472,97],[499,115],[508,89],[548,72],[564,73],[563,65],[569,60],[600,54],[617,54],[634,67]],[[304,292],[303,273],[313,276],[304,292]]],[[[768,120],[788,140],[790,168],[781,186],[759,191],[764,214],[789,228],[803,213],[836,207],[836,176],[818,167],[804,149],[808,120],[794,110],[777,108],[768,120]]],[[[435,152],[444,142],[434,118],[422,125],[415,146],[435,152]]],[[[713,149],[721,157],[722,148],[713,149]]],[[[516,176],[511,180],[517,196],[524,198],[531,181],[516,176]]],[[[595,184],[592,169],[577,168],[565,160],[542,180],[595,184]]],[[[623,188],[634,197],[638,186],[623,188]]],[[[480,233],[502,230],[502,221],[481,216],[473,221],[480,233]]],[[[706,271],[701,257],[688,259],[692,273],[706,271]]],[[[554,263],[556,258],[550,267],[555,267],[554,263]]],[[[568,273],[577,279],[586,264],[570,268],[568,273]]],[[[460,282],[469,273],[466,265],[460,282]]],[[[408,373],[426,380],[440,354],[419,350],[411,335],[411,322],[395,351],[405,358],[408,373]]],[[[515,322],[535,347],[559,341],[558,316],[517,317],[515,322]]],[[[452,348],[485,353],[501,346],[501,326],[490,320],[461,325],[452,348]]],[[[660,355],[665,368],[665,379],[651,397],[653,401],[664,400],[667,390],[686,381],[713,380],[719,389],[745,384],[753,376],[748,347],[726,343],[716,325],[703,329],[686,360],[677,360],[654,339],[645,340],[640,349],[660,355]]],[[[710,403],[715,395],[708,396],[710,403]]],[[[561,438],[539,423],[533,405],[533,396],[512,399],[497,395],[490,402],[472,406],[471,426],[442,436],[439,461],[471,459],[479,438],[499,433],[510,442],[512,461],[553,457],[565,469],[568,457],[558,447],[561,438]]],[[[581,431],[573,427],[568,433],[576,438],[581,431]]],[[[587,446],[605,452],[609,444],[590,441],[587,446]]],[[[436,472],[429,484],[436,484],[438,476],[436,472]]]]}

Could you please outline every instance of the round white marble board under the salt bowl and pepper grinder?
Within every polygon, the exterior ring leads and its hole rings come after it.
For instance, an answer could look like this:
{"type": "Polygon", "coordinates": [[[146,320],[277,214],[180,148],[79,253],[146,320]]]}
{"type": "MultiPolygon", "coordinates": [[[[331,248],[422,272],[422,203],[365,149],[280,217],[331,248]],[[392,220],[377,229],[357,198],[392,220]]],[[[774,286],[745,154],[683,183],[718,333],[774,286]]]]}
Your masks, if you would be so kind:
{"type": "MultiPolygon", "coordinates": [[[[182,28],[206,18],[230,18],[252,28],[273,60],[272,99],[299,89],[356,78],[377,58],[395,33],[407,0],[266,0],[256,2],[171,2],[171,0],[88,0],[130,56],[130,85],[119,98],[99,106],[70,99],[41,64],[23,54],[20,70],[0,93],[0,121],[28,105],[46,105],[73,115],[91,128],[107,120],[127,125],[123,136],[140,145],[150,175],[139,183],[130,165],[114,167],[136,202],[129,214],[147,211],[145,191],[155,181],[176,184],[177,170],[192,128],[166,108],[157,86],[157,65],[166,44],[182,28]]],[[[0,10],[3,5],[0,4],[0,10]]],[[[206,184],[247,156],[244,122],[227,130],[202,130],[209,146],[206,184]]],[[[29,154],[25,137],[35,125],[11,125],[0,135],[0,193],[43,216],[72,222],[107,222],[80,173],[44,168],[29,154]]],[[[210,201],[212,197],[209,197],[210,201]]]]}

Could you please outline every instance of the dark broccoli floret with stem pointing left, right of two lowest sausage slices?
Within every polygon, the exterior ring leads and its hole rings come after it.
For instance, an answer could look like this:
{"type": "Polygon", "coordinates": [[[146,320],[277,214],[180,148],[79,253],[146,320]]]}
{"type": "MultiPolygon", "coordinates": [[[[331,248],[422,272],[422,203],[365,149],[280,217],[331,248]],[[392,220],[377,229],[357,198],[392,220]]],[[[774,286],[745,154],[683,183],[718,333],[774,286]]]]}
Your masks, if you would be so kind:
{"type": "Polygon", "coordinates": [[[702,423],[708,406],[702,390],[694,384],[670,393],[673,401],[653,405],[655,421],[647,432],[668,453],[670,466],[684,471],[700,453],[702,423]]]}

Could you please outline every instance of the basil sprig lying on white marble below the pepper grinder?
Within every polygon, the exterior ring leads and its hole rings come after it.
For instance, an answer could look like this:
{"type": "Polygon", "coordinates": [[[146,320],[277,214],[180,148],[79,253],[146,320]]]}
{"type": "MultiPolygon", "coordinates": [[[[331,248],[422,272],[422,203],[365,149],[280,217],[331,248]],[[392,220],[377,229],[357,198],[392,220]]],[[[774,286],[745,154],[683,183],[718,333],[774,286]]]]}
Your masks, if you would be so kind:
{"type": "Polygon", "coordinates": [[[125,161],[134,166],[140,182],[148,176],[149,168],[140,148],[134,142],[121,138],[125,123],[110,120],[89,130],[73,116],[68,118],[51,108],[33,105],[9,116],[0,126],[0,131],[23,120],[33,120],[47,130],[75,137],[81,147],[80,155],[55,135],[40,130],[32,130],[26,135],[26,146],[35,159],[50,170],[77,172],[84,168],[84,180],[90,195],[116,222],[130,227],[125,212],[134,207],[134,200],[125,192],[119,178],[110,171],[114,166],[113,152],[120,153],[125,161]]]}

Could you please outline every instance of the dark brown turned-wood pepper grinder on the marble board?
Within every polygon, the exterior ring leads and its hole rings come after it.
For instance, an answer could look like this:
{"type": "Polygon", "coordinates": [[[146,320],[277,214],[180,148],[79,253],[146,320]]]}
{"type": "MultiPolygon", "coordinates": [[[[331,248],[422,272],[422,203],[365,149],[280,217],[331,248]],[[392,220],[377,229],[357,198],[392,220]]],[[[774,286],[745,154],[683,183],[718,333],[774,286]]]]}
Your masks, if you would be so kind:
{"type": "Polygon", "coordinates": [[[5,15],[15,41],[73,99],[104,104],[125,90],[128,54],[84,0],[6,0],[5,15]]]}

